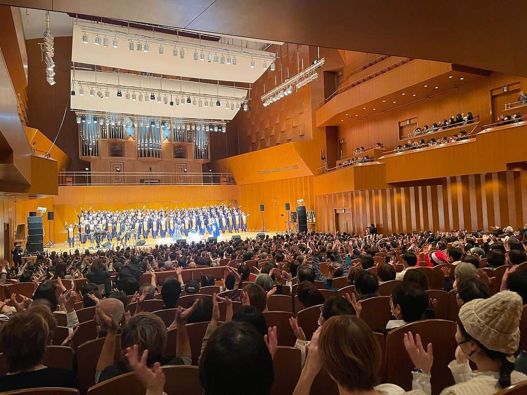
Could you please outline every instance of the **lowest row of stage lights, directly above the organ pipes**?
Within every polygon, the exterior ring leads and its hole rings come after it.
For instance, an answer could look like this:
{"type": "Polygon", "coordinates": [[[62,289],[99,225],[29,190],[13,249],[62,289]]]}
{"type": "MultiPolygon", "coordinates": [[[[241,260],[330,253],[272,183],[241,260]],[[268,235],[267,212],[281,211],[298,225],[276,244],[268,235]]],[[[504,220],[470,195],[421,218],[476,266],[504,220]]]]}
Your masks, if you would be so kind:
{"type": "Polygon", "coordinates": [[[132,125],[143,126],[144,122],[150,122],[151,127],[156,129],[187,130],[187,131],[209,131],[225,133],[227,122],[214,120],[197,120],[194,118],[170,118],[155,117],[151,115],[137,114],[114,114],[89,111],[75,111],[76,122],[78,124],[105,124],[106,126],[132,125]],[[129,122],[127,122],[129,120],[129,122]]]}

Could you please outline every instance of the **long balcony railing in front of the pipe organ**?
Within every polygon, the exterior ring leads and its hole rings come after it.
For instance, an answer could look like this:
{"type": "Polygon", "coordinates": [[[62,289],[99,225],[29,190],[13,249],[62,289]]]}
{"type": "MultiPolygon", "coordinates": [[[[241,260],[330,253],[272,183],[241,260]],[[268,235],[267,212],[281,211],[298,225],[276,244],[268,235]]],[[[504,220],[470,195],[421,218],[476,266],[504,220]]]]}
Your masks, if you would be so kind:
{"type": "Polygon", "coordinates": [[[58,185],[232,185],[232,173],[59,172],[58,185]]]}

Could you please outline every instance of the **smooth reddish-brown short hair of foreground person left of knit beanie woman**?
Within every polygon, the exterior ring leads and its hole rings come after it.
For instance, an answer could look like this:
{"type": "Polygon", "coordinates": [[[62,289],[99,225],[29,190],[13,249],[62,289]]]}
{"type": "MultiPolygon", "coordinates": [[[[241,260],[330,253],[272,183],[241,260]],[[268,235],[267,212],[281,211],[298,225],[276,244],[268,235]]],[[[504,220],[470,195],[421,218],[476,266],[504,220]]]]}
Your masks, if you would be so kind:
{"type": "Polygon", "coordinates": [[[324,323],[318,342],[323,366],[348,390],[371,390],[381,364],[380,345],[355,315],[335,315],[324,323]]]}

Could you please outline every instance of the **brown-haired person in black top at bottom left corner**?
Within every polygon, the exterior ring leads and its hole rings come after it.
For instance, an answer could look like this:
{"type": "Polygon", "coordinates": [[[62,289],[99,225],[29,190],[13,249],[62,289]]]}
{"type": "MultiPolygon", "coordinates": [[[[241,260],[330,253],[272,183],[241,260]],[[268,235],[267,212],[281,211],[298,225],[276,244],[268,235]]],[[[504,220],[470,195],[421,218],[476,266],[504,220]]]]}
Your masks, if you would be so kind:
{"type": "Polygon", "coordinates": [[[60,387],[77,388],[75,372],[48,368],[42,361],[50,337],[41,314],[16,313],[0,329],[0,349],[7,358],[8,373],[0,377],[0,390],[60,387]]]}

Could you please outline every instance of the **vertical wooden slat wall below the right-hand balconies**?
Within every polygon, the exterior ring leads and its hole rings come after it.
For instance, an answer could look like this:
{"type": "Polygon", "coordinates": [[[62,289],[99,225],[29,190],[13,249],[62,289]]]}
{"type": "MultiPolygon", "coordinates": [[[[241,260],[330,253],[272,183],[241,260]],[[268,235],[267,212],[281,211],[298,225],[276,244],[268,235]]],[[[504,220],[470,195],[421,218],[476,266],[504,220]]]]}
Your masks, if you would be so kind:
{"type": "Polygon", "coordinates": [[[319,231],[335,231],[335,208],[351,208],[354,231],[489,229],[527,222],[527,171],[450,177],[436,185],[315,196],[319,231]]]}

